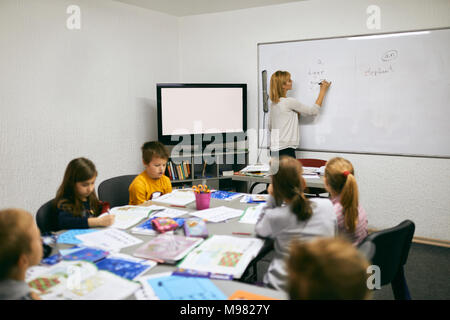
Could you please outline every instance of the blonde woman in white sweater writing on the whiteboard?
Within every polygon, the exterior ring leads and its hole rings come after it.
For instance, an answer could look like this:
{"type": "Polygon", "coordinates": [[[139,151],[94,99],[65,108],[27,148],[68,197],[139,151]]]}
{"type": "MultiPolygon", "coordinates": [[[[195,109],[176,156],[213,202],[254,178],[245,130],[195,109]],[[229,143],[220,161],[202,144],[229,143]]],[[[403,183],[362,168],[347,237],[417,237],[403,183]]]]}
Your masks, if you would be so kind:
{"type": "Polygon", "coordinates": [[[330,82],[322,80],[315,104],[308,106],[294,98],[286,97],[287,92],[292,89],[289,72],[277,71],[272,75],[270,78],[272,104],[269,115],[271,155],[278,152],[280,157],[287,155],[296,158],[295,149],[300,144],[299,117],[301,114],[317,115],[329,87],[330,82]]]}

